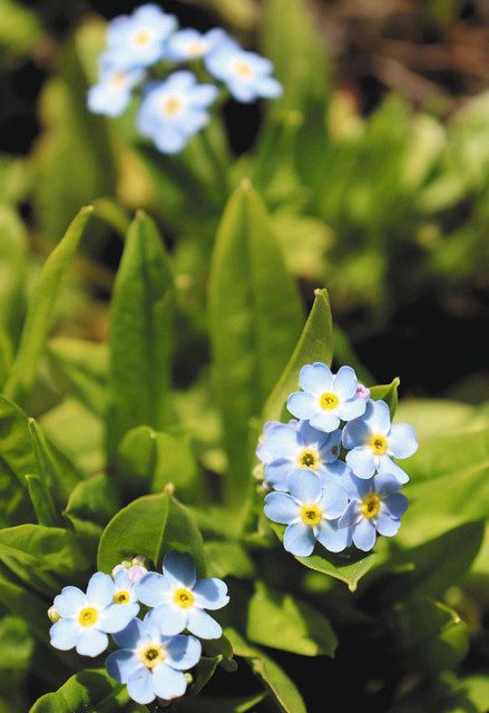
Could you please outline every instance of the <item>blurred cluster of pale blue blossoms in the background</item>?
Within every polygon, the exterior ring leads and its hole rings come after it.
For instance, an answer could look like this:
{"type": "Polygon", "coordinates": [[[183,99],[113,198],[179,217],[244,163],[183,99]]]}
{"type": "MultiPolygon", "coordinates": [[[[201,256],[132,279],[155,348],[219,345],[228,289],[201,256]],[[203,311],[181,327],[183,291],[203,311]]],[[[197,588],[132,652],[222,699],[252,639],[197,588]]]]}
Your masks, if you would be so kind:
{"type": "Polygon", "coordinates": [[[271,76],[268,59],[245,51],[222,29],[205,33],[178,30],[174,16],[150,3],[109,23],[107,48],[100,57],[98,82],[88,92],[88,106],[96,114],[120,116],[129,107],[133,91],[141,87],[139,131],[162,153],[176,154],[208,123],[208,109],[219,94],[215,84],[198,84],[188,69],[174,71],[180,66],[222,81],[245,104],[282,94],[282,86],[271,76]]]}

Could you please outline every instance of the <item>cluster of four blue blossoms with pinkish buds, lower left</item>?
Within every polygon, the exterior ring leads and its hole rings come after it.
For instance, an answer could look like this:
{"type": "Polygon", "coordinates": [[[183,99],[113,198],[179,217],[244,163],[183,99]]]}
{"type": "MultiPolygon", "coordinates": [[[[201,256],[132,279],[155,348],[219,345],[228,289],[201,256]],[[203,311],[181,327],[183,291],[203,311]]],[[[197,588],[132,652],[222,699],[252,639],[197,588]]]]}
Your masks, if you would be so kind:
{"type": "Polygon", "coordinates": [[[202,655],[198,638],[218,638],[219,624],[205,609],[219,609],[229,600],[222,579],[196,578],[189,555],[170,551],[163,575],[148,572],[140,558],[118,565],[113,576],[97,572],[87,592],[65,587],[49,616],[51,645],[98,656],[109,645],[108,673],[127,684],[137,703],[172,701],[184,695],[188,675],[202,655]],[[144,605],[146,614],[138,618],[144,605]],[[183,634],[184,631],[189,634],[183,634]]]}

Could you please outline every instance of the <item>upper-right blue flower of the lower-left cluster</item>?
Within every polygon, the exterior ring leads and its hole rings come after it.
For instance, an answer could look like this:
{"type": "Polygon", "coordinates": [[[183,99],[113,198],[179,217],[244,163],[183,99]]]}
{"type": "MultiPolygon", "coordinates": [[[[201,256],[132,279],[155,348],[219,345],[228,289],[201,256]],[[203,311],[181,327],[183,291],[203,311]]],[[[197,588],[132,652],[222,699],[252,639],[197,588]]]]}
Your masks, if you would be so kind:
{"type": "Polygon", "coordinates": [[[165,636],[187,628],[201,638],[219,638],[219,624],[205,609],[221,609],[229,597],[222,579],[196,580],[195,563],[189,555],[168,553],[163,575],[151,572],[138,584],[139,602],[155,607],[154,622],[165,636]]]}

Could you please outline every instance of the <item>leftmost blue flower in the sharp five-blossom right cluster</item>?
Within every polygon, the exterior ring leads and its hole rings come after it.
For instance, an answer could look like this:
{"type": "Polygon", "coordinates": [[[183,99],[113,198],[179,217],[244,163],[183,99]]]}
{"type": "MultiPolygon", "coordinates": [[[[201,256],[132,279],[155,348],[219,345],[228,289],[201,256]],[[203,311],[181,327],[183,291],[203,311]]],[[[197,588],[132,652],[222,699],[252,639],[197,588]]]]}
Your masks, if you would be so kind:
{"type": "Polygon", "coordinates": [[[341,431],[317,431],[309,421],[272,422],[265,424],[264,439],[256,456],[265,466],[265,479],[275,490],[288,490],[288,480],[305,471],[317,476],[332,472],[330,465],[338,459],[341,431]]]}

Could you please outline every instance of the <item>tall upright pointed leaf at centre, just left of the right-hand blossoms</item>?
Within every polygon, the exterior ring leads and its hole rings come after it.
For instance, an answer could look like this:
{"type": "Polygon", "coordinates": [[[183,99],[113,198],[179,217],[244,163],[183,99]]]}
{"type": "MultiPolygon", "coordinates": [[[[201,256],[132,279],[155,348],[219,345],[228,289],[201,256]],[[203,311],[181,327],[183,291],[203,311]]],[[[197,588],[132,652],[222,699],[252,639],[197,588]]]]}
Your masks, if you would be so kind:
{"type": "Polygon", "coordinates": [[[243,180],[224,212],[209,276],[214,382],[232,472],[224,491],[236,507],[251,485],[250,419],[261,413],[301,324],[297,289],[265,206],[243,180]]]}

